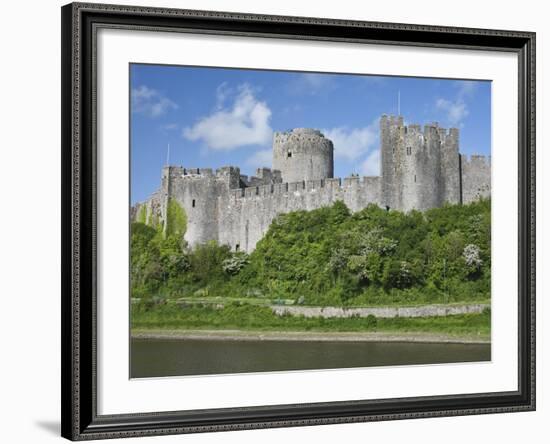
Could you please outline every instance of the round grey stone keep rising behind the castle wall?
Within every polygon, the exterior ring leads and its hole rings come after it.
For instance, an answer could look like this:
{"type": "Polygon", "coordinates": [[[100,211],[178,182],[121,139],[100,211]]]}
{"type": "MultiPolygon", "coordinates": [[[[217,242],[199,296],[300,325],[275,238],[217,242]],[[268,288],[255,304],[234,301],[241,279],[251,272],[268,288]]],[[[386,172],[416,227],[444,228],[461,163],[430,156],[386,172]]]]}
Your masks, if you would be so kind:
{"type": "Polygon", "coordinates": [[[283,182],[320,180],[334,176],[334,146],[321,131],[296,128],[273,136],[273,169],[283,182]]]}

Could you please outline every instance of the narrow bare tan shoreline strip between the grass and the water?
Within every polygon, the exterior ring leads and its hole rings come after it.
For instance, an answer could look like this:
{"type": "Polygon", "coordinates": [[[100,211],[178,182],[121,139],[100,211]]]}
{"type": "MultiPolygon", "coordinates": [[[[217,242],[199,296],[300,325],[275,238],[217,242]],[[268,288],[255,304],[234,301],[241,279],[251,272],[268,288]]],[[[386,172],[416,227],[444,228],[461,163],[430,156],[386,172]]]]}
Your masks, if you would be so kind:
{"type": "Polygon", "coordinates": [[[292,332],[244,330],[132,329],[132,339],[227,340],[227,341],[330,341],[330,342],[415,342],[490,344],[485,335],[448,335],[419,332],[292,332]]]}

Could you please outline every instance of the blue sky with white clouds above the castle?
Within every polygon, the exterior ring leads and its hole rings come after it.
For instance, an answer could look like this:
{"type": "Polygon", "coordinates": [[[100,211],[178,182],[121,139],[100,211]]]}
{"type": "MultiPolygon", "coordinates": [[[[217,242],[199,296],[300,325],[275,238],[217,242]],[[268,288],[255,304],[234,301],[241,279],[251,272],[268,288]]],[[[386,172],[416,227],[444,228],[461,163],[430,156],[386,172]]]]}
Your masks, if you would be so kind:
{"type": "Polygon", "coordinates": [[[491,83],[185,66],[130,66],[132,203],[167,162],[271,166],[274,131],[311,127],[334,142],[335,177],[379,174],[379,118],[460,128],[460,151],[489,155],[491,83]]]}

